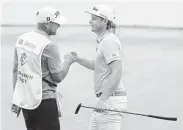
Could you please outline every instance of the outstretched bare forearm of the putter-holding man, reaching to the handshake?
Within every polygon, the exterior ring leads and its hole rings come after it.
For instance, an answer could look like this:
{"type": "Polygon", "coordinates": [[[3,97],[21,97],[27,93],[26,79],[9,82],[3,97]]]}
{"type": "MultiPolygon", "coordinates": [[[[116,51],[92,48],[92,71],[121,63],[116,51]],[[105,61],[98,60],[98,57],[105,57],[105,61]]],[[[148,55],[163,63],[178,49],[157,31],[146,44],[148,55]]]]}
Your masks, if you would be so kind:
{"type": "Polygon", "coordinates": [[[90,70],[95,70],[94,60],[87,60],[87,59],[78,57],[76,62],[90,70]]]}

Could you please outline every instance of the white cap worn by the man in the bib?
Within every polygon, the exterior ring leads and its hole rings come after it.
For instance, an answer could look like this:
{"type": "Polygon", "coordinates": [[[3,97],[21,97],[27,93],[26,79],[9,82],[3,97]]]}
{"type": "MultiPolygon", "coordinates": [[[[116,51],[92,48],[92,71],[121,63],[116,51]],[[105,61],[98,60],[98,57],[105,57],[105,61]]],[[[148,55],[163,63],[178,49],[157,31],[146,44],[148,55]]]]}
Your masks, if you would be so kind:
{"type": "Polygon", "coordinates": [[[60,12],[52,7],[44,7],[37,11],[36,21],[38,23],[54,22],[58,24],[64,24],[66,18],[60,15],[60,12]]]}

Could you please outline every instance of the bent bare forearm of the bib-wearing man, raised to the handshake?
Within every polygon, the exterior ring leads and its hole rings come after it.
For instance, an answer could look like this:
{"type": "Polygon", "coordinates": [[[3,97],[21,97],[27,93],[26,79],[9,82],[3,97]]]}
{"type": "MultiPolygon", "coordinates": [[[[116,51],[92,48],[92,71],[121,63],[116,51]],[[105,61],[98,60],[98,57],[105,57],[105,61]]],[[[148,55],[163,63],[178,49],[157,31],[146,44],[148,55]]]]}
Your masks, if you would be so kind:
{"type": "Polygon", "coordinates": [[[71,66],[72,62],[69,60],[64,60],[63,63],[63,69],[61,71],[61,81],[65,78],[65,76],[67,75],[69,68],[71,66]]]}

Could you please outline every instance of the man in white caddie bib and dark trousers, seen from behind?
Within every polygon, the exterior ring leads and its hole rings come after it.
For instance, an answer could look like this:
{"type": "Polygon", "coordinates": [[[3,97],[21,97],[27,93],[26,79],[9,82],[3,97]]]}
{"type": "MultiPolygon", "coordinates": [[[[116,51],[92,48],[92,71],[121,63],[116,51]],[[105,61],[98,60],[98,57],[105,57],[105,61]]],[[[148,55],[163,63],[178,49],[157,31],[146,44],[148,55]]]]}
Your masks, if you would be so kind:
{"type": "Polygon", "coordinates": [[[51,7],[36,13],[37,28],[18,37],[13,68],[12,111],[23,112],[27,130],[60,130],[56,101],[60,83],[74,60],[60,60],[56,35],[65,17],[51,7]]]}

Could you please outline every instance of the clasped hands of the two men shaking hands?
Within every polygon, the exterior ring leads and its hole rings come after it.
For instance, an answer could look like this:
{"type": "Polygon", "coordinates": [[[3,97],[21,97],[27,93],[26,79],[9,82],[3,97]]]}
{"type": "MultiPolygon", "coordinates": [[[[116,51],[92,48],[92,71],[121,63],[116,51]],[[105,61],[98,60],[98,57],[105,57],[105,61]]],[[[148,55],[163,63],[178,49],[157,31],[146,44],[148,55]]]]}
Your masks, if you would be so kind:
{"type": "Polygon", "coordinates": [[[70,52],[64,55],[64,59],[69,61],[71,64],[77,62],[78,54],[76,52],[70,52]]]}

